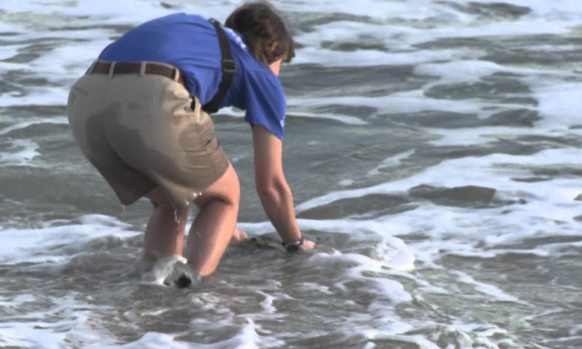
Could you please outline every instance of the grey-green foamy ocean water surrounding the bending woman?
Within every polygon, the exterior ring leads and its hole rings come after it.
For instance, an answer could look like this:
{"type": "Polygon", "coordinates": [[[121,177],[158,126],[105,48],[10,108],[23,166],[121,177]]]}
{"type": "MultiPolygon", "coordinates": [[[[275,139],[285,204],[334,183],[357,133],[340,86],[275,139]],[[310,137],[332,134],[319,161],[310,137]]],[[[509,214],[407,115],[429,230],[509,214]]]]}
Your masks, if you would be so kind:
{"type": "Polygon", "coordinates": [[[582,348],[579,0],[276,1],[300,47],[285,174],[317,248],[269,243],[250,128],[222,110],[258,242],[164,286],[181,259],[142,260],[151,205],[85,161],[68,89],[132,26],[237,4],[0,1],[0,347],[582,348]]]}

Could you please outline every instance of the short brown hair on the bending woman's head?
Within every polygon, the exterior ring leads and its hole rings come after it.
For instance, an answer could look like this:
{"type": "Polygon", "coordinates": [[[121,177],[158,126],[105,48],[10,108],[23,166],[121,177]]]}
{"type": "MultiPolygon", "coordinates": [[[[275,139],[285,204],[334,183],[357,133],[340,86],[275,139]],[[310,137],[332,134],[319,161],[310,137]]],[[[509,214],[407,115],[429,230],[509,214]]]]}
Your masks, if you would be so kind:
{"type": "Polygon", "coordinates": [[[295,57],[290,31],[268,1],[246,2],[228,16],[224,25],[243,34],[257,61],[270,64],[282,58],[289,63],[295,57]]]}

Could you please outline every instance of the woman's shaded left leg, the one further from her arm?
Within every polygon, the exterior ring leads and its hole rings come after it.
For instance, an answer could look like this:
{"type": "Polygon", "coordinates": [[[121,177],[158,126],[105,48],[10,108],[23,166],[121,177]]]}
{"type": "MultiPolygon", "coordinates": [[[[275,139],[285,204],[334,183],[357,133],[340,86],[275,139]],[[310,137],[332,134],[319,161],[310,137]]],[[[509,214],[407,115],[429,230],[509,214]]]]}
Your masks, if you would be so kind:
{"type": "Polygon", "coordinates": [[[146,194],[154,205],[144,234],[144,252],[147,258],[163,258],[184,251],[184,228],[188,219],[188,207],[177,214],[161,189],[146,194]],[[178,222],[176,222],[176,218],[178,222]]]}

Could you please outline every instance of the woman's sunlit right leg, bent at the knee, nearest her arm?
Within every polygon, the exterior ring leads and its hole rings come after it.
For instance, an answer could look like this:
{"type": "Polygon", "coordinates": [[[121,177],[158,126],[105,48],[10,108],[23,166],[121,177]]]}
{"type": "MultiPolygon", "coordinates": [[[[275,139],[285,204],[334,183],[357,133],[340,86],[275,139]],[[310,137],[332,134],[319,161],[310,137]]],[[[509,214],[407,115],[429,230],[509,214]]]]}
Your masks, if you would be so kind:
{"type": "Polygon", "coordinates": [[[234,236],[240,187],[232,165],[196,199],[200,211],[190,227],[188,264],[201,276],[212,274],[234,236]]]}

